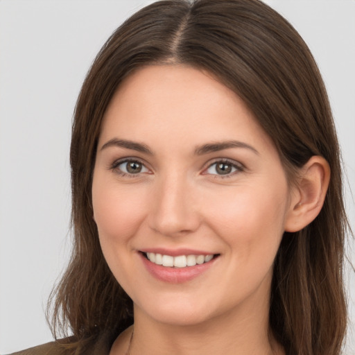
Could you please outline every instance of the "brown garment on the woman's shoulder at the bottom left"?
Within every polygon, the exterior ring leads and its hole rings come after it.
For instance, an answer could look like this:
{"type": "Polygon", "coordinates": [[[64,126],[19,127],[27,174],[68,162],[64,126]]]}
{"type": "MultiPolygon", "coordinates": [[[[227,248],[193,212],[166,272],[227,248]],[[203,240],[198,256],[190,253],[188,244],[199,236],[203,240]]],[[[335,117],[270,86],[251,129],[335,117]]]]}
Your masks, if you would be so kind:
{"type": "Polygon", "coordinates": [[[85,345],[85,347],[79,347],[78,349],[65,349],[61,345],[62,343],[70,343],[70,338],[31,347],[10,355],[109,355],[112,346],[105,334],[85,345]]]}

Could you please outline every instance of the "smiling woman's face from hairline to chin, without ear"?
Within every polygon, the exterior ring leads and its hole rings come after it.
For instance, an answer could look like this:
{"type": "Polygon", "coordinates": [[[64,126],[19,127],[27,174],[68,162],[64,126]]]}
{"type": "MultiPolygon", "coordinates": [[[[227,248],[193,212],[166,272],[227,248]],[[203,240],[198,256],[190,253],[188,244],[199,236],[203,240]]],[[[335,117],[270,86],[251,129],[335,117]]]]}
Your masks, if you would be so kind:
{"type": "Polygon", "coordinates": [[[92,198],[135,315],[268,317],[291,191],[252,112],[207,73],[150,66],[125,80],[103,119],[92,198]]]}

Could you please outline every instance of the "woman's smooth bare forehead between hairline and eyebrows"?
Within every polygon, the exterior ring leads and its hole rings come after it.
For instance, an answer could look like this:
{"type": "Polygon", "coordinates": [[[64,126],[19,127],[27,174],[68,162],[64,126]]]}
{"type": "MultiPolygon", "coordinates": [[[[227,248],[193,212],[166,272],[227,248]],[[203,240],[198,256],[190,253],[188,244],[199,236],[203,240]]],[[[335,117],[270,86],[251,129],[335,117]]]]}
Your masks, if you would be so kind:
{"type": "Polygon", "coordinates": [[[101,141],[119,135],[147,144],[191,146],[205,141],[248,140],[272,146],[251,110],[206,71],[155,65],[128,76],[103,118],[101,141]]]}

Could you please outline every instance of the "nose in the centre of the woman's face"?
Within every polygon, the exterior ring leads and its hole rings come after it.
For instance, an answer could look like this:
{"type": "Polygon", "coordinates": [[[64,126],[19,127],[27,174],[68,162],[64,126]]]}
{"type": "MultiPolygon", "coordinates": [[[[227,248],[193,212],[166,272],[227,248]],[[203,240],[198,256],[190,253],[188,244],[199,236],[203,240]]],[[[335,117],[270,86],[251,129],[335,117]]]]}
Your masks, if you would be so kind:
{"type": "Polygon", "coordinates": [[[200,225],[196,191],[191,182],[178,174],[156,182],[150,208],[149,226],[164,236],[183,236],[200,225]]]}

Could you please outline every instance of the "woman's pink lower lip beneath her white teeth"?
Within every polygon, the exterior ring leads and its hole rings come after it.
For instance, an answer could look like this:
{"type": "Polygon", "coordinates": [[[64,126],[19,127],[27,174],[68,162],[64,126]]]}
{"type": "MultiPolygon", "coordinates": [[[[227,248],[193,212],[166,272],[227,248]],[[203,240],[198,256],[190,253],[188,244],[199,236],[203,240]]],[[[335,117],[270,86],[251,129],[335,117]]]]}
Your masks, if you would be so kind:
{"type": "Polygon", "coordinates": [[[141,260],[146,266],[148,272],[153,277],[160,281],[168,282],[170,284],[181,284],[182,282],[188,282],[206,272],[216,261],[216,257],[207,263],[202,263],[195,266],[187,266],[186,268],[170,268],[162,265],[157,265],[149,261],[144,254],[139,252],[141,260]]]}

